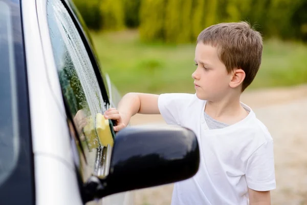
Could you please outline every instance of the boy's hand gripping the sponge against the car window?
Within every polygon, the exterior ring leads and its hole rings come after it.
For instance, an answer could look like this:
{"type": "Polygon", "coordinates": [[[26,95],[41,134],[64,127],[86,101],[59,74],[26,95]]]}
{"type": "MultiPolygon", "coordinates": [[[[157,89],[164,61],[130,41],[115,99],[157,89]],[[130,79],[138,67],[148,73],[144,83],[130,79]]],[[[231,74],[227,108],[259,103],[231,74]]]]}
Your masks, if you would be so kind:
{"type": "Polygon", "coordinates": [[[114,126],[113,129],[117,132],[125,128],[130,121],[130,117],[127,114],[120,113],[115,108],[109,108],[107,111],[105,111],[104,118],[113,119],[116,121],[116,126],[114,126]]]}

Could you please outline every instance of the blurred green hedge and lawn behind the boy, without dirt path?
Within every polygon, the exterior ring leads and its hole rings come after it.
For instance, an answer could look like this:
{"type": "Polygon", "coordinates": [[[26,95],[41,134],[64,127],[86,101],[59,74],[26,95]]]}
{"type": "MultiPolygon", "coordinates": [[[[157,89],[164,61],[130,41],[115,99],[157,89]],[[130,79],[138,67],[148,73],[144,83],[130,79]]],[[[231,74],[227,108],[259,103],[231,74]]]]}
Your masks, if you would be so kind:
{"type": "Polygon", "coordinates": [[[193,92],[195,40],[206,27],[245,20],[264,36],[248,89],[307,81],[306,0],[74,0],[104,72],[119,91],[193,92]],[[142,86],[139,86],[139,85],[142,86]]]}

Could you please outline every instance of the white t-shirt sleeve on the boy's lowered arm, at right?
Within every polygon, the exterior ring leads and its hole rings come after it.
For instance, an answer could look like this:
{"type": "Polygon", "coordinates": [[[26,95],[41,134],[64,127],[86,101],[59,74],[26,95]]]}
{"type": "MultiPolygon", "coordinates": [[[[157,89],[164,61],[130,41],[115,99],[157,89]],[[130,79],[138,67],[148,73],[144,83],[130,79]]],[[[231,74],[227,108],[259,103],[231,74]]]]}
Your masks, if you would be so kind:
{"type": "Polygon", "coordinates": [[[262,144],[248,159],[246,181],[255,191],[276,189],[273,140],[262,144]]]}

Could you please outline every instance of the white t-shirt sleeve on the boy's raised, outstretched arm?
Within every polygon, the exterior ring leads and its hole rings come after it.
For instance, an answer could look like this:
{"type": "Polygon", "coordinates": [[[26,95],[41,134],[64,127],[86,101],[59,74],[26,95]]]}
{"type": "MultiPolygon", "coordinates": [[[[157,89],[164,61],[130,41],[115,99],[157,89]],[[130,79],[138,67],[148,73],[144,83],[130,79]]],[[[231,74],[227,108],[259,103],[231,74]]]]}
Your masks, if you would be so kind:
{"type": "Polygon", "coordinates": [[[192,96],[192,94],[187,93],[160,94],[158,98],[159,111],[168,125],[182,126],[182,112],[187,107],[187,101],[192,96]]]}

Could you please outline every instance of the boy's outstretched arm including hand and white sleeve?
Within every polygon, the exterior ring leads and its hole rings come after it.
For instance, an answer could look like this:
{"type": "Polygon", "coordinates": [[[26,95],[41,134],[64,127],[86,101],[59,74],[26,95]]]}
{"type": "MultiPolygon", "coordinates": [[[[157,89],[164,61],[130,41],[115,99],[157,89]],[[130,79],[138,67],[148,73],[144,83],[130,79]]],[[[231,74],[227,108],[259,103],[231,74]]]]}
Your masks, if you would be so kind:
{"type": "Polygon", "coordinates": [[[104,113],[104,117],[116,120],[115,131],[125,128],[131,116],[137,113],[161,114],[168,125],[182,126],[182,112],[195,97],[194,94],[188,93],[164,93],[161,95],[128,93],[120,100],[118,108],[108,109],[104,113]]]}

